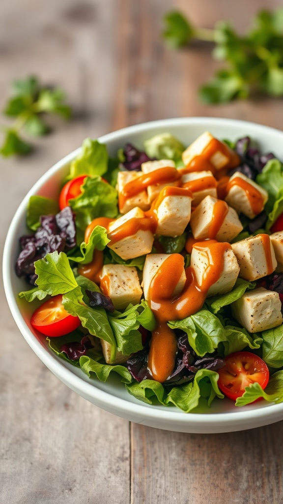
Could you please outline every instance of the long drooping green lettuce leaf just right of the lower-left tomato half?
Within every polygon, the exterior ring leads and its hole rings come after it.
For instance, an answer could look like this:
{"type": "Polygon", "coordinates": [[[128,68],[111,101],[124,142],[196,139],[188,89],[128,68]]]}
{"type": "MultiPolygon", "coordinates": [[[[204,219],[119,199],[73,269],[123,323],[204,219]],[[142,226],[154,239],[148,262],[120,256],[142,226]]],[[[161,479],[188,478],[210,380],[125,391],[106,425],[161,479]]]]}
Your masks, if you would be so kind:
{"type": "Polygon", "coordinates": [[[104,308],[91,308],[84,302],[81,287],[77,287],[63,295],[63,306],[74,317],[79,317],[82,326],[90,334],[107,341],[111,347],[111,361],[116,356],[116,340],[109,324],[104,308]]]}

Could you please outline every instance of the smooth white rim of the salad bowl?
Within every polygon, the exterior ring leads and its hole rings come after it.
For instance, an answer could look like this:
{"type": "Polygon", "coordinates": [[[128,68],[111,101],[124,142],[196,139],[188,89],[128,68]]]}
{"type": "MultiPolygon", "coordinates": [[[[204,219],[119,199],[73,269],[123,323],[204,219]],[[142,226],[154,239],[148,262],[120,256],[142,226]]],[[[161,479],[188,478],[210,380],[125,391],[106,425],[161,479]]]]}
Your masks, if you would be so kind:
{"type": "MultiPolygon", "coordinates": [[[[153,129],[162,127],[174,127],[174,126],[182,126],[182,125],[192,125],[192,124],[203,124],[207,125],[209,122],[209,127],[213,127],[213,125],[227,125],[242,127],[243,132],[245,128],[252,127],[255,131],[259,132],[270,132],[274,135],[280,135],[283,140],[283,132],[277,130],[275,128],[271,128],[265,126],[263,124],[257,124],[251,121],[244,121],[239,119],[227,119],[221,117],[176,117],[170,119],[159,119],[153,120],[149,122],[143,122],[140,124],[135,124],[106,135],[103,135],[98,138],[99,142],[107,144],[112,140],[119,140],[129,134],[133,133],[142,133],[145,131],[151,131],[153,129]]],[[[241,424],[251,423],[253,420],[261,420],[264,419],[264,423],[267,424],[273,421],[277,421],[280,418],[276,418],[279,416],[279,413],[283,412],[283,403],[280,404],[268,404],[264,405],[264,407],[260,407],[257,409],[250,410],[237,410],[230,412],[217,412],[217,413],[184,413],[181,410],[176,408],[176,411],[172,411],[171,409],[159,409],[155,406],[149,406],[144,403],[136,404],[134,402],[127,401],[123,398],[114,396],[113,394],[101,390],[96,387],[95,381],[90,381],[90,383],[83,380],[80,376],[75,374],[72,370],[68,369],[64,366],[63,361],[58,361],[55,356],[53,356],[49,351],[46,350],[44,346],[40,343],[40,341],[34,336],[31,330],[26,325],[23,316],[21,314],[20,308],[16,302],[16,298],[13,294],[11,275],[14,273],[14,265],[11,267],[11,253],[13,249],[13,243],[15,238],[17,237],[17,227],[21,219],[26,213],[27,202],[33,194],[35,194],[41,186],[60,168],[64,165],[72,161],[79,153],[81,152],[81,147],[77,148],[73,152],[64,156],[61,160],[55,163],[51,168],[49,168],[31,187],[30,191],[26,194],[24,199],[19,205],[19,208],[15,212],[15,215],[11,221],[10,227],[8,229],[4,252],[3,252],[3,281],[4,281],[4,289],[8,301],[8,305],[12,312],[12,316],[26,339],[29,346],[35,352],[35,354],[42,360],[42,362],[53,372],[65,385],[75,390],[78,394],[85,397],[86,395],[91,397],[94,400],[94,404],[97,406],[109,411],[108,407],[111,404],[112,409],[116,410],[117,415],[124,416],[123,414],[135,414],[136,416],[140,416],[143,418],[143,421],[139,423],[146,423],[147,420],[151,421],[160,421],[162,428],[162,423],[166,423],[170,425],[172,423],[183,424],[189,427],[190,425],[202,424],[205,426],[217,426],[219,424],[229,425],[235,424],[237,422],[237,429],[234,430],[242,430],[243,428],[250,428],[250,426],[242,426],[241,424]],[[111,399],[111,401],[110,401],[111,399]]],[[[90,399],[88,399],[90,400],[90,399]]],[[[134,421],[134,420],[133,420],[134,421]]],[[[166,428],[166,427],[165,427],[166,428]]],[[[167,427],[168,428],[168,427],[167,427]]],[[[212,429],[211,429],[212,431],[212,429]]],[[[217,430],[218,432],[224,430],[217,430]]]]}

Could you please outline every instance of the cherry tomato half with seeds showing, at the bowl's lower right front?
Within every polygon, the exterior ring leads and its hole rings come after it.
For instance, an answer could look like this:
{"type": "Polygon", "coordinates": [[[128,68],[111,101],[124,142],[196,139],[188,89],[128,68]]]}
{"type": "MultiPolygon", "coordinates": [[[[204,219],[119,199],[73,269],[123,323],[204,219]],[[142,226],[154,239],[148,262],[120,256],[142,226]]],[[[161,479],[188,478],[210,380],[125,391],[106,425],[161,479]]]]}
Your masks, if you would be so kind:
{"type": "Polygon", "coordinates": [[[268,384],[269,370],[265,362],[251,352],[227,355],[224,367],[219,369],[218,386],[226,397],[235,401],[245,392],[245,387],[258,383],[262,389],[268,384]]]}

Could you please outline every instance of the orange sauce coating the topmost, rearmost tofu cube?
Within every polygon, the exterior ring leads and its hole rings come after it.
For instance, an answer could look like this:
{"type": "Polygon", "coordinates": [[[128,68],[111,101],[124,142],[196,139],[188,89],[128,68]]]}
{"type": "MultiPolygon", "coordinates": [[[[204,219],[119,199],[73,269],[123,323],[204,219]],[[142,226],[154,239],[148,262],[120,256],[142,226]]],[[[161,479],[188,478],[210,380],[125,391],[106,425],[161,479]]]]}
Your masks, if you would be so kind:
{"type": "Polygon", "coordinates": [[[239,166],[240,162],[240,157],[238,156],[238,154],[236,154],[236,152],[230,149],[225,143],[217,140],[216,138],[213,138],[207,144],[203,152],[198,156],[195,156],[190,161],[190,163],[182,169],[182,173],[191,173],[192,171],[205,170],[211,171],[214,175],[217,176],[217,178],[219,178],[219,175],[223,175],[224,170],[227,171],[227,169],[235,168],[236,166],[239,166]],[[210,161],[211,156],[213,156],[218,151],[227,156],[229,160],[227,165],[220,170],[217,170],[214,164],[210,161]]]}

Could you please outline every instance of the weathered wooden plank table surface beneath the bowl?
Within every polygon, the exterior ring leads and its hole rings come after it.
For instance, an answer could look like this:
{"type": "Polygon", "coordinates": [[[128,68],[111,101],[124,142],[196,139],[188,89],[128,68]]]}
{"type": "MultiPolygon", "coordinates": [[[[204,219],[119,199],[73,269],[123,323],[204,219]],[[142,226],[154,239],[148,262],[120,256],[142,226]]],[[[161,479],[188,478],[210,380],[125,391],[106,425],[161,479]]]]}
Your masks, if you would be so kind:
{"type": "MultiPolygon", "coordinates": [[[[11,80],[35,73],[66,90],[75,114],[54,121],[33,155],[1,159],[1,241],[22,198],[86,136],[177,116],[221,116],[282,127],[282,100],[201,104],[217,64],[210,47],[171,51],[162,17],[245,30],[279,0],[3,0],[0,105],[11,80]]],[[[4,120],[4,118],[3,118],[4,120]]],[[[1,121],[2,122],[2,121],[1,121]]],[[[244,132],[243,132],[244,133],[244,132]]],[[[197,435],[129,424],[70,391],[20,335],[1,288],[0,501],[5,504],[259,504],[283,502],[283,422],[197,435]]]]}

